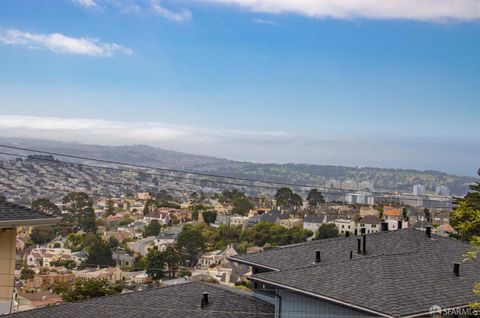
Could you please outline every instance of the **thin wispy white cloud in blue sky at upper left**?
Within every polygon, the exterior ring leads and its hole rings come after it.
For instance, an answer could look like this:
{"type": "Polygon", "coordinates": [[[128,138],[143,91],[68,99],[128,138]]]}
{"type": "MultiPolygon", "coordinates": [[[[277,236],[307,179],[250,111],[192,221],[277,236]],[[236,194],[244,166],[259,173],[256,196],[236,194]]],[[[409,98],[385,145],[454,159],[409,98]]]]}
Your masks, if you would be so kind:
{"type": "Polygon", "coordinates": [[[55,53],[90,56],[113,56],[115,53],[130,55],[132,49],[116,43],[103,43],[97,39],[74,38],[61,33],[30,33],[16,29],[0,30],[0,42],[20,45],[30,49],[47,49],[55,53]]]}

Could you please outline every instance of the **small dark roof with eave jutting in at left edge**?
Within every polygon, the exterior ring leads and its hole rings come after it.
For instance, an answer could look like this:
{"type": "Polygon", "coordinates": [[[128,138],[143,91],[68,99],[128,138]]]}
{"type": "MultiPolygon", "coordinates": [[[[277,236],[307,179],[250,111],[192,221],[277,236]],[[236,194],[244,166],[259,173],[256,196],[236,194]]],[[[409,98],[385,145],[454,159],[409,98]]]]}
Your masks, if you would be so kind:
{"type": "Polygon", "coordinates": [[[0,201],[0,228],[22,225],[49,225],[58,223],[60,220],[52,214],[8,201],[0,201]]]}

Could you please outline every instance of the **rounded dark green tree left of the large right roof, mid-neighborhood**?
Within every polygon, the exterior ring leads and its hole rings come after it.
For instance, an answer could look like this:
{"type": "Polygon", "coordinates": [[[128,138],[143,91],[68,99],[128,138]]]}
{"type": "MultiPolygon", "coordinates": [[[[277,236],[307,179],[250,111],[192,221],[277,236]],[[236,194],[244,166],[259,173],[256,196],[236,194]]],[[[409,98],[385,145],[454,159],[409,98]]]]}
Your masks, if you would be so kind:
{"type": "Polygon", "coordinates": [[[177,247],[184,260],[188,261],[190,266],[194,266],[206,248],[206,239],[199,228],[187,224],[178,234],[177,247]]]}

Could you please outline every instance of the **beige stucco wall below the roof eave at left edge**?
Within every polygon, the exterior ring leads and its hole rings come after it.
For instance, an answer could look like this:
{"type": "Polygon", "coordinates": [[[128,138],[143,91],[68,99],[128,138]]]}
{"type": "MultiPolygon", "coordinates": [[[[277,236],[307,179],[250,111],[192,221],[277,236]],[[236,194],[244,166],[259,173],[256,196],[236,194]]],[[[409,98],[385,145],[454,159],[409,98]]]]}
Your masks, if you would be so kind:
{"type": "Polygon", "coordinates": [[[15,274],[16,229],[0,229],[0,314],[10,311],[15,274]]]}

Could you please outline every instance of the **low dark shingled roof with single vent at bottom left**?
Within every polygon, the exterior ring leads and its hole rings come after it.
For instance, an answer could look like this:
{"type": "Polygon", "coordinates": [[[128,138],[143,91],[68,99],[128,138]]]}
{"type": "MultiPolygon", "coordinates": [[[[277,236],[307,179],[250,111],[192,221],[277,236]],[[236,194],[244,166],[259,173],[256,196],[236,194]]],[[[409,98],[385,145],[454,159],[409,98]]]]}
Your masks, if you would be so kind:
{"type": "Polygon", "coordinates": [[[11,317],[129,318],[129,317],[274,317],[274,306],[232,288],[185,283],[115,296],[24,311],[11,317]],[[200,307],[202,293],[209,303],[200,307]]]}

